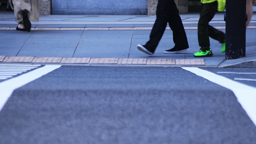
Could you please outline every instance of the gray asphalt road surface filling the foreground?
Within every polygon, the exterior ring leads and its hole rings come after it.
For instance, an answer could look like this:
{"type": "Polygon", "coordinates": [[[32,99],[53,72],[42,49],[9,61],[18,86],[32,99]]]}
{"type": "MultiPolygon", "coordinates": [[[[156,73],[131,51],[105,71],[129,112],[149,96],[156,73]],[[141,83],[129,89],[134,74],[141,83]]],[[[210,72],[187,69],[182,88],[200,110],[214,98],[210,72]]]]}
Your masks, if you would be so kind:
{"type": "Polygon", "coordinates": [[[21,83],[0,109],[0,144],[256,144],[255,69],[41,68],[0,81],[2,102],[21,83]]]}

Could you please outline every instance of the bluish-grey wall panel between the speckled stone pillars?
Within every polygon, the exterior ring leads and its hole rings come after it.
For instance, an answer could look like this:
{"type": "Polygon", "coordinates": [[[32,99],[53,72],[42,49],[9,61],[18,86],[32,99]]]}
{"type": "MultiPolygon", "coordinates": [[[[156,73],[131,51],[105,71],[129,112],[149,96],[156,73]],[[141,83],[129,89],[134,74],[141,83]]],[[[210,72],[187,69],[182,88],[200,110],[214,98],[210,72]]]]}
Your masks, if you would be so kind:
{"type": "Polygon", "coordinates": [[[52,14],[147,15],[147,0],[52,0],[52,14]]]}

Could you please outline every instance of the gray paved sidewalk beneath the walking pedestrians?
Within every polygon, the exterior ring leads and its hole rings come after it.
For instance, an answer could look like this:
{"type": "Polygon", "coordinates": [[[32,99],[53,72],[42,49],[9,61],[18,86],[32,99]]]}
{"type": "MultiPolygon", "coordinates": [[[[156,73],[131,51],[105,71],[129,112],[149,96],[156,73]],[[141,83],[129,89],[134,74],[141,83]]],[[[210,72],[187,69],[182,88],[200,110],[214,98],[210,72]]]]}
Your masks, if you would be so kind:
{"type": "MultiPolygon", "coordinates": [[[[202,58],[193,57],[193,53],[199,50],[196,27],[199,14],[183,14],[181,18],[188,37],[189,51],[184,54],[163,53],[164,50],[174,46],[172,31],[167,28],[154,56],[148,56],[138,51],[136,45],[147,42],[155,16],[40,16],[39,22],[32,22],[31,32],[20,32],[15,30],[17,24],[13,13],[0,12],[0,56],[2,56],[0,62],[32,62],[33,60],[33,62],[40,62],[38,58],[41,58],[41,62],[48,63],[52,61],[47,61],[46,58],[51,57],[55,60],[59,58],[54,62],[62,61],[63,64],[67,59],[74,63],[74,58],[119,58],[120,60],[128,58],[130,61],[146,59],[150,63],[150,60],[156,59],[155,61],[163,62],[155,64],[170,64],[166,61],[174,60],[177,62],[174,65],[179,66],[183,64],[178,61],[187,60],[190,61],[188,65],[206,67],[241,66],[239,65],[241,62],[247,62],[250,67],[256,67],[253,62],[249,62],[256,61],[255,15],[246,30],[245,58],[225,60],[225,54],[220,52],[220,44],[210,39],[214,56],[203,58],[203,64],[195,63],[201,62],[202,58]],[[27,61],[22,61],[23,57],[27,61]]],[[[217,13],[211,25],[225,31],[223,19],[224,13],[217,13]]],[[[90,64],[90,60],[83,63],[90,64]]],[[[113,62],[106,63],[113,64],[113,62]]]]}

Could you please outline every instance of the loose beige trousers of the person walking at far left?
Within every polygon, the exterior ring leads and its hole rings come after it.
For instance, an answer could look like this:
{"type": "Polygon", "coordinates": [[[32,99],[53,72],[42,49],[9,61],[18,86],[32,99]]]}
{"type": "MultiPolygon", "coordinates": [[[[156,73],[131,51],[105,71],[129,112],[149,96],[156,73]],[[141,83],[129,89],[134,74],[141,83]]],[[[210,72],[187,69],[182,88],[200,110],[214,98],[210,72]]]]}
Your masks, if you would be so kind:
{"type": "Polygon", "coordinates": [[[28,12],[28,17],[32,22],[39,21],[39,0],[9,0],[9,2],[14,10],[17,23],[22,23],[24,10],[28,12]]]}

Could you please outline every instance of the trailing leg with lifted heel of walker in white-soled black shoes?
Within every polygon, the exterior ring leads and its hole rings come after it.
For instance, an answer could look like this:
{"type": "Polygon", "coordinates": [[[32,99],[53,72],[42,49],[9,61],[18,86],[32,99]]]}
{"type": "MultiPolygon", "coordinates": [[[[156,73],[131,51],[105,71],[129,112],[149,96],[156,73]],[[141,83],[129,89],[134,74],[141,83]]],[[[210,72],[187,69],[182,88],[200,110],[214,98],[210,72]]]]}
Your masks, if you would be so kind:
{"type": "Polygon", "coordinates": [[[150,33],[150,39],[145,45],[137,45],[138,50],[153,55],[160,42],[167,25],[168,4],[171,0],[158,0],[156,21],[150,33]]]}

